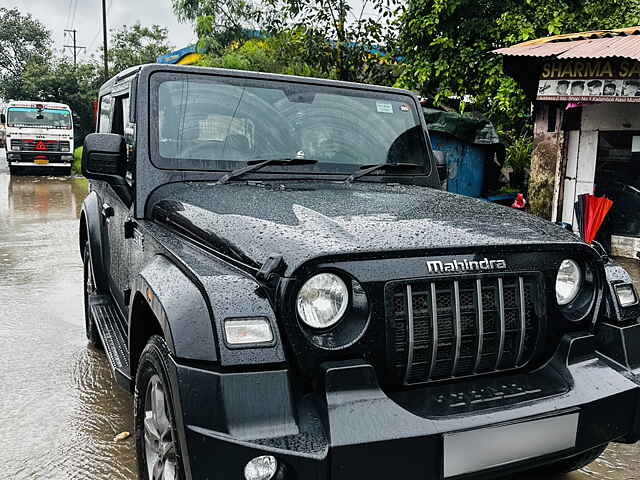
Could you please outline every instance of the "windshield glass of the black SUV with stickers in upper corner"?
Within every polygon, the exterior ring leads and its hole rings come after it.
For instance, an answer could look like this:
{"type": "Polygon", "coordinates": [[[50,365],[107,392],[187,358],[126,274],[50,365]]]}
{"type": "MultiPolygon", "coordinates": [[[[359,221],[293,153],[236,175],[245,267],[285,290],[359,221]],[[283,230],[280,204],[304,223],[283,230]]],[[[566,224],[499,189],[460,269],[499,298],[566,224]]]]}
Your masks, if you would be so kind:
{"type": "Polygon", "coordinates": [[[170,78],[158,82],[153,112],[162,166],[227,169],[274,158],[317,160],[309,168],[330,172],[377,163],[426,165],[425,134],[408,95],[256,79],[170,78]]]}

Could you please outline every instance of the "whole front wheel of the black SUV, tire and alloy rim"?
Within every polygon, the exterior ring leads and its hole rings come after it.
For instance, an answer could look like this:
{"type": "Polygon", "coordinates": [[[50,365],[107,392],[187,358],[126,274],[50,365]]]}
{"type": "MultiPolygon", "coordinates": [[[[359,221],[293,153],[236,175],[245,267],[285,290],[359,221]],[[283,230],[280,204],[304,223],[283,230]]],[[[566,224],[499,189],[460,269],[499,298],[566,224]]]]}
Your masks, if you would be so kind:
{"type": "Polygon", "coordinates": [[[158,335],[142,355],[134,393],[134,424],[138,475],[142,480],[184,480],[171,384],[169,349],[158,335]]]}

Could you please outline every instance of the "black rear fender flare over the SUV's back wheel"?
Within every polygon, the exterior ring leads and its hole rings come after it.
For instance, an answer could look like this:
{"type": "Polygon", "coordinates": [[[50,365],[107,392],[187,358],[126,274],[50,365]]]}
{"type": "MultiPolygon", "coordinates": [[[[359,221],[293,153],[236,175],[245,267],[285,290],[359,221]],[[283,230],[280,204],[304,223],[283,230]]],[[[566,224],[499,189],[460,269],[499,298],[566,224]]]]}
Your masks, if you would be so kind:
{"type": "Polygon", "coordinates": [[[82,203],[80,214],[80,253],[84,243],[89,243],[89,254],[93,267],[93,278],[98,293],[106,293],[108,289],[107,271],[104,266],[103,230],[100,198],[94,191],[89,193],[82,203]]]}

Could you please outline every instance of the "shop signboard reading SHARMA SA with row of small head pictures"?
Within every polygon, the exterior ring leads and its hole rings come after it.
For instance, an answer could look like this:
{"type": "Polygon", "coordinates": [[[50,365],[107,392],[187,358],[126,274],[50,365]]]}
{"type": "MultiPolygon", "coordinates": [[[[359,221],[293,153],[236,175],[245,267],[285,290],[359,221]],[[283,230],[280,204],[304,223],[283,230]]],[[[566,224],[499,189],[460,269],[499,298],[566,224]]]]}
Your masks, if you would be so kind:
{"type": "Polygon", "coordinates": [[[545,63],[537,99],[640,102],[640,62],[584,60],[545,63]]]}

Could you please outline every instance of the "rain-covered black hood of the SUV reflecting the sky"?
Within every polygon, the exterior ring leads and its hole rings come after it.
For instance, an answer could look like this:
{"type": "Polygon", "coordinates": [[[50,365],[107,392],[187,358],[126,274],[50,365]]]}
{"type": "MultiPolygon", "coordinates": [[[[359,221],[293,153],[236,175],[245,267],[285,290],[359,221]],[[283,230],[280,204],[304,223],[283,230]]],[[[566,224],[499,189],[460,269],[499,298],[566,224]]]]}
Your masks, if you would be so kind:
{"type": "Polygon", "coordinates": [[[256,267],[281,254],[288,273],[327,256],[581,243],[532,215],[417,186],[183,183],[154,196],[156,219],[256,267]]]}

